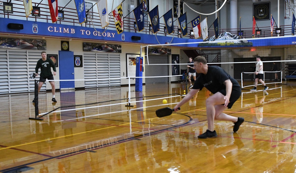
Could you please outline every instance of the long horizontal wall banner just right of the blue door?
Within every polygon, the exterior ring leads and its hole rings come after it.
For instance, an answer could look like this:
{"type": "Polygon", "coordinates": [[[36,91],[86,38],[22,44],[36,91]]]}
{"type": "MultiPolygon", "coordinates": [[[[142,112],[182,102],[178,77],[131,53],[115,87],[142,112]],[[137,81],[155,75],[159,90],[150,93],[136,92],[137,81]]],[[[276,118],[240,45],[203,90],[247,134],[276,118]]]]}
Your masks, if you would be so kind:
{"type": "Polygon", "coordinates": [[[83,51],[121,53],[121,45],[107,45],[83,42],[83,51]]]}

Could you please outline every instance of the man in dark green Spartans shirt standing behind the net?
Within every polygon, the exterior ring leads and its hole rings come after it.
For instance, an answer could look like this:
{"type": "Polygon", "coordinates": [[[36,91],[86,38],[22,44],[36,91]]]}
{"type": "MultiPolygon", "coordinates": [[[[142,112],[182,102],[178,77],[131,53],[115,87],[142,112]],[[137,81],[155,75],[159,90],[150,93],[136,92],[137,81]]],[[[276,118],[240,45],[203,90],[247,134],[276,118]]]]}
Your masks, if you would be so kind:
{"type": "MultiPolygon", "coordinates": [[[[38,70],[39,68],[41,69],[41,73],[40,73],[40,79],[39,79],[39,85],[38,85],[38,93],[40,91],[40,88],[42,87],[42,85],[44,84],[44,82],[46,81],[46,79],[48,80],[54,80],[54,76],[56,75],[56,68],[54,65],[54,62],[51,59],[46,58],[46,52],[43,51],[41,52],[41,59],[38,60],[36,67],[35,67],[35,73],[36,76],[38,76],[38,70]],[[54,73],[52,75],[52,71],[51,68],[54,70],[54,73]]],[[[55,85],[54,85],[54,81],[50,81],[49,82],[50,85],[52,85],[52,101],[53,102],[57,102],[57,100],[54,98],[54,94],[55,94],[55,85]]],[[[35,98],[33,100],[33,103],[35,103],[35,98]]]]}

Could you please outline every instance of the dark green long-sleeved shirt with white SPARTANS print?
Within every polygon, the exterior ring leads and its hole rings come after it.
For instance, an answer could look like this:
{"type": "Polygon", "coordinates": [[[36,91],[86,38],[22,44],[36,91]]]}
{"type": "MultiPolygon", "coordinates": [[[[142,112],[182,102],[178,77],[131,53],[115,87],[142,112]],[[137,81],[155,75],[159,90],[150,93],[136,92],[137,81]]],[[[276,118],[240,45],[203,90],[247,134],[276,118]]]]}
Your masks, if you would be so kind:
{"type": "Polygon", "coordinates": [[[40,76],[48,77],[48,76],[52,75],[52,70],[50,69],[50,67],[52,67],[54,72],[57,72],[54,62],[52,62],[51,59],[46,58],[46,60],[44,61],[41,58],[40,60],[38,60],[38,62],[36,64],[35,72],[38,73],[38,70],[40,68],[41,69],[40,76]]]}

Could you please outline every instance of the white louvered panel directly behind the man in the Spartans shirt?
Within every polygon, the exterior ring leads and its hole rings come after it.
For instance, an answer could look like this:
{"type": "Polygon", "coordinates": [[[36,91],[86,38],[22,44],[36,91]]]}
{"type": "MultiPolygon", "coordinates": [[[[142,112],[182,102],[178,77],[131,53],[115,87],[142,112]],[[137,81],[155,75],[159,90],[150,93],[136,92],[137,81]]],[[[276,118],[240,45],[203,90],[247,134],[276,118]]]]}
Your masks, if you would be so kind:
{"type": "MultiPolygon", "coordinates": [[[[29,83],[29,91],[30,92],[34,92],[34,90],[35,90],[35,85],[34,85],[35,79],[38,81],[40,76],[38,75],[37,78],[31,79],[29,75],[31,73],[35,73],[35,67],[36,67],[37,61],[40,58],[41,58],[41,51],[40,52],[28,51],[28,68],[29,68],[28,83],[29,83]]],[[[40,90],[41,91],[46,90],[46,83],[44,83],[42,85],[42,88],[40,90]]]]}

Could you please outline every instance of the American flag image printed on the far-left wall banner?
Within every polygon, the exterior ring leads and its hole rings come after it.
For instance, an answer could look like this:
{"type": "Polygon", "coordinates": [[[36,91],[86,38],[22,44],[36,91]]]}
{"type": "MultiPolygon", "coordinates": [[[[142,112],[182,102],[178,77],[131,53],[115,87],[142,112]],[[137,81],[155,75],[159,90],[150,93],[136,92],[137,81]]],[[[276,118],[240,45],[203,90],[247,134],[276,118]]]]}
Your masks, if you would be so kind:
{"type": "Polygon", "coordinates": [[[12,39],[1,43],[0,48],[38,50],[34,45],[22,39],[12,39]]]}

